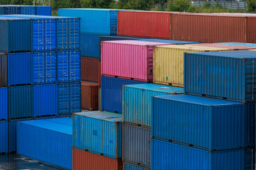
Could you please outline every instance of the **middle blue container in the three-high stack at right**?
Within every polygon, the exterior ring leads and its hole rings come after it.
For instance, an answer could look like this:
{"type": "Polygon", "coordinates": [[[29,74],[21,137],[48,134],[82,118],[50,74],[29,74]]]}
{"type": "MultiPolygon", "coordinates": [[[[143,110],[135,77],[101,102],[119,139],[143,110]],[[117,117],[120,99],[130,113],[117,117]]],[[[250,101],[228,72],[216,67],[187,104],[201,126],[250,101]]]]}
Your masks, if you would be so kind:
{"type": "Polygon", "coordinates": [[[152,136],[207,150],[255,146],[255,103],[190,95],[153,98],[152,136]]]}

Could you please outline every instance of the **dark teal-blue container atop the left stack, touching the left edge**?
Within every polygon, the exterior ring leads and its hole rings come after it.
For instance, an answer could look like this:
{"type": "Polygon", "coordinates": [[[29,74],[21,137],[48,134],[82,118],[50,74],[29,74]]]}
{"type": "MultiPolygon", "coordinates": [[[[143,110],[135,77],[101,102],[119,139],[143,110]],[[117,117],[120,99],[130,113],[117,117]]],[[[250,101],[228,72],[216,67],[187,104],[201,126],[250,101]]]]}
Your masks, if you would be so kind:
{"type": "Polygon", "coordinates": [[[0,51],[32,50],[32,20],[0,17],[0,51]]]}

